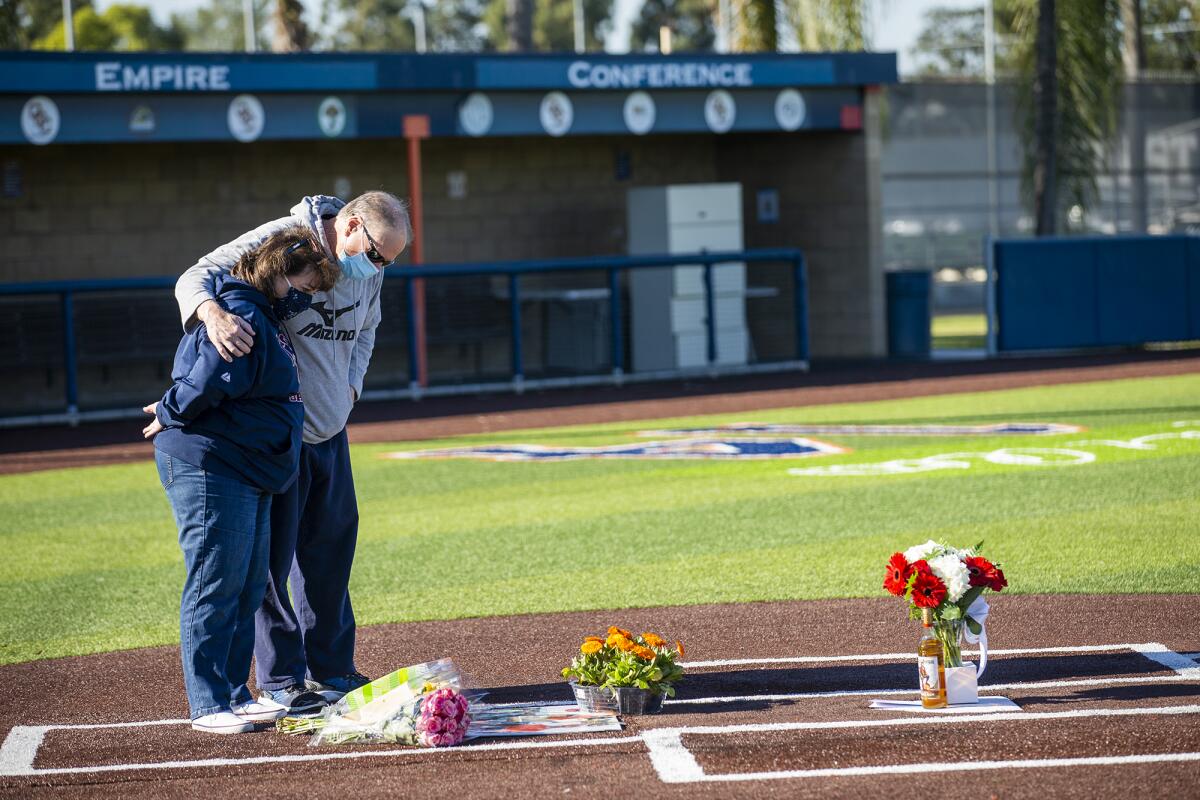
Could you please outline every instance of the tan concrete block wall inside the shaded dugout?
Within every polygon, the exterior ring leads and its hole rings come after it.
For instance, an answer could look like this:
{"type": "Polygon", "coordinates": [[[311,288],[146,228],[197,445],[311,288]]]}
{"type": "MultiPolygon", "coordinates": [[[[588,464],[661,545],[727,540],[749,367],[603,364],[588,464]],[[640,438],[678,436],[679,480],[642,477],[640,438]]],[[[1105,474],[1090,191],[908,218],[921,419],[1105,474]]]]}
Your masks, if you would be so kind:
{"type": "MultiPolygon", "coordinates": [[[[624,253],[629,188],[740,181],[746,246],[809,255],[812,355],[880,354],[859,133],[431,139],[422,161],[430,263],[624,253]],[[451,173],[466,175],[462,198],[451,173]],[[780,222],[757,222],[760,188],[779,191],[780,222]]],[[[6,282],[176,275],[305,194],[408,185],[402,140],[20,146],[0,162],[17,162],[22,184],[0,198],[6,282]]],[[[780,317],[785,272],[772,278],[780,317]]]]}

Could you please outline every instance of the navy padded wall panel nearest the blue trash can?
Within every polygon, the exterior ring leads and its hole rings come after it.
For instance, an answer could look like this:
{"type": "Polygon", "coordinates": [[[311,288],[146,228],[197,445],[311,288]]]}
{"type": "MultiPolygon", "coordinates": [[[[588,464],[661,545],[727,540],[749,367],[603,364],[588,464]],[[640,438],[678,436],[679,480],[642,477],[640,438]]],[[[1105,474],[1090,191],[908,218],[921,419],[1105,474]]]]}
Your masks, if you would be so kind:
{"type": "Polygon", "coordinates": [[[1075,241],[997,241],[1000,349],[1096,343],[1094,246],[1075,241]]]}

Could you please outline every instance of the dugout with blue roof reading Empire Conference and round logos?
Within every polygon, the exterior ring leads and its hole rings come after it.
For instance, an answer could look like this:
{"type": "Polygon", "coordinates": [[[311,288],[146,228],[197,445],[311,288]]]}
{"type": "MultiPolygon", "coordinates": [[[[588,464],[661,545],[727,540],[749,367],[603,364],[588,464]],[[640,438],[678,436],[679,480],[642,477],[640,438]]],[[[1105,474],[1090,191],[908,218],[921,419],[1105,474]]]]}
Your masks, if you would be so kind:
{"type": "MultiPolygon", "coordinates": [[[[0,282],[174,276],[304,194],[408,196],[404,118],[424,116],[426,264],[624,254],[631,188],[737,184],[745,248],[804,251],[812,357],[880,356],[875,89],[895,77],[893,54],[863,53],[0,53],[0,282]]],[[[762,360],[787,357],[770,320],[791,313],[788,276],[748,265],[762,360]]],[[[431,378],[503,373],[503,287],[476,276],[428,290],[431,378]]],[[[0,415],[61,407],[60,303],[0,302],[23,331],[5,356],[19,390],[0,415]]],[[[92,398],[80,408],[161,383],[178,329],[155,302],[77,299],[80,395],[92,398]],[[154,355],[163,342],[166,361],[154,355]]],[[[385,297],[384,326],[402,305],[385,297]]],[[[546,339],[530,345],[533,372],[550,368],[553,313],[523,320],[546,339]]],[[[586,326],[587,311],[568,319],[586,326]]],[[[368,387],[403,383],[403,338],[380,336],[368,387]]]]}

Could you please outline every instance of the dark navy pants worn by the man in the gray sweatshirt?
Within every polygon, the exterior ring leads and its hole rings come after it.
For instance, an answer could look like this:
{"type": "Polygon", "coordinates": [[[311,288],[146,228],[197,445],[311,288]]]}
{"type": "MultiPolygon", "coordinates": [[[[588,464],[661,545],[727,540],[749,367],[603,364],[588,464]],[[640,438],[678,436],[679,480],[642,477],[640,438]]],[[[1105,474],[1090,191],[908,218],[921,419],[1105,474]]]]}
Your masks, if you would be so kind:
{"type": "Polygon", "coordinates": [[[262,688],[354,672],[349,584],[358,539],[359,504],[343,429],[301,447],[300,476],[271,504],[270,578],[254,643],[262,688]]]}

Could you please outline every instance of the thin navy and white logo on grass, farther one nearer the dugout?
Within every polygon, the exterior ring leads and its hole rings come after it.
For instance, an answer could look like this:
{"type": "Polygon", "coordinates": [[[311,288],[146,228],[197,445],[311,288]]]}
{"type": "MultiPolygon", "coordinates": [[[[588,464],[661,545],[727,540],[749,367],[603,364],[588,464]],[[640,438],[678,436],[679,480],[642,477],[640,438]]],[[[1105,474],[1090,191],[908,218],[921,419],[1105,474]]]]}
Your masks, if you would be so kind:
{"type": "Polygon", "coordinates": [[[997,422],[994,425],[772,425],[731,422],[715,428],[642,431],[640,437],[719,437],[733,434],[844,437],[1030,437],[1079,433],[1078,425],[1057,422],[997,422]]]}

